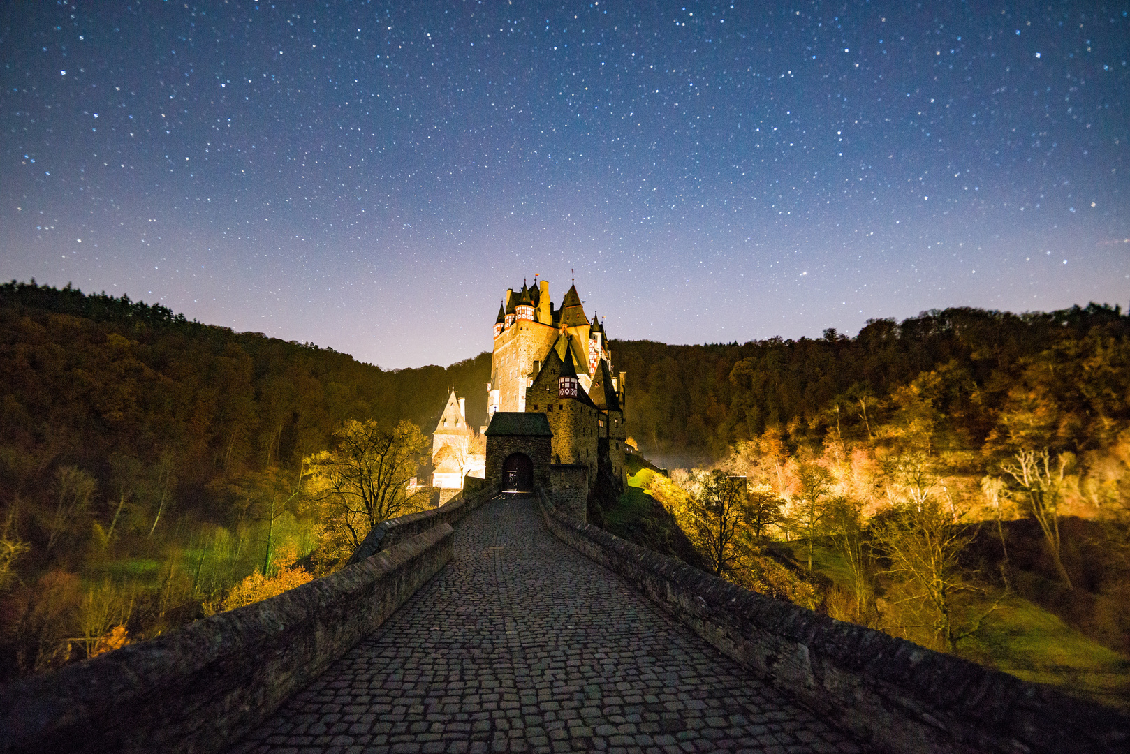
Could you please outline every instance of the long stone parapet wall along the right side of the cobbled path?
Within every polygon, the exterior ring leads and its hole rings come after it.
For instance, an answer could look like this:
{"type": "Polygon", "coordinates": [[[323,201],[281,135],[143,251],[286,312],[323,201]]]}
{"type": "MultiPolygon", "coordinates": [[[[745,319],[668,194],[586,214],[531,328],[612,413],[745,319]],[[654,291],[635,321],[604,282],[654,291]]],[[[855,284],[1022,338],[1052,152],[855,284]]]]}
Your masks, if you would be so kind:
{"type": "Polygon", "coordinates": [[[879,631],[741,589],[565,515],[549,530],[626,578],[679,622],[883,752],[1106,753],[1130,719],[879,631]]]}

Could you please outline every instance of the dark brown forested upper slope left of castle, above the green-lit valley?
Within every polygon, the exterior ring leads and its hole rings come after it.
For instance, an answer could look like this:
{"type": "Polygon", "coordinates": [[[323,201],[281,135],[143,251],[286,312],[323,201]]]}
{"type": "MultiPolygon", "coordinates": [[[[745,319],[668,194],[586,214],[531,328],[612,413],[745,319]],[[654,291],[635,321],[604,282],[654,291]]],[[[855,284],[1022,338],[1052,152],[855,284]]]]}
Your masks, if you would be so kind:
{"type": "Polygon", "coordinates": [[[127,296],[3,284],[0,496],[32,502],[60,465],[93,474],[99,491],[121,469],[171,465],[177,497],[207,504],[217,478],[294,467],[346,419],[408,419],[428,432],[452,384],[481,423],[489,370],[480,354],[386,371],[127,296]]]}

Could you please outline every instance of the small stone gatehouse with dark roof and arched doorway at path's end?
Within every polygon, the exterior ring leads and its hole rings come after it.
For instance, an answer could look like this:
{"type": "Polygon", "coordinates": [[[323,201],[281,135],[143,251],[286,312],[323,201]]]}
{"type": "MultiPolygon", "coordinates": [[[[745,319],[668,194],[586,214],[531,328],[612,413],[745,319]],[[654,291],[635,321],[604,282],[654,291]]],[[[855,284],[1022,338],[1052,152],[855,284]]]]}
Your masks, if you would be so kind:
{"type": "Polygon", "coordinates": [[[485,434],[488,485],[503,492],[533,492],[536,484],[549,488],[554,433],[545,414],[495,411],[485,434]]]}

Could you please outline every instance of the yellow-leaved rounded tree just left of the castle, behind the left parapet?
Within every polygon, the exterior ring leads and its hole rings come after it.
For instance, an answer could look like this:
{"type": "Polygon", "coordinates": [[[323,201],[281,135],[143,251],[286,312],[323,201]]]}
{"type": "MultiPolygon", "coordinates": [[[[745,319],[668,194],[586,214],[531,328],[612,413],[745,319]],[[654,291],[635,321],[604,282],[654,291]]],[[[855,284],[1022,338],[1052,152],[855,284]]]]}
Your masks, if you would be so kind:
{"type": "Polygon", "coordinates": [[[427,440],[410,422],[385,430],[374,419],[346,422],[333,439],[332,450],[306,461],[311,492],[356,548],[374,526],[405,508],[405,491],[424,459],[427,440]]]}

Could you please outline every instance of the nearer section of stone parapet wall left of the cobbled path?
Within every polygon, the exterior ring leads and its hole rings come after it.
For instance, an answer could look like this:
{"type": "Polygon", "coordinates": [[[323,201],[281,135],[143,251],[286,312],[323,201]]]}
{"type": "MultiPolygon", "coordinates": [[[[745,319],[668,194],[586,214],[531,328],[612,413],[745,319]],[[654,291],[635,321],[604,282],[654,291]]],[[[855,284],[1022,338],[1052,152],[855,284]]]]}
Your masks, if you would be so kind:
{"type": "Polygon", "coordinates": [[[278,597],[0,687],[0,752],[219,752],[452,556],[444,523],[278,597]]]}

